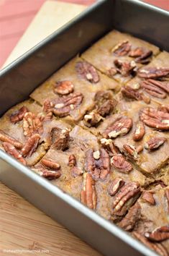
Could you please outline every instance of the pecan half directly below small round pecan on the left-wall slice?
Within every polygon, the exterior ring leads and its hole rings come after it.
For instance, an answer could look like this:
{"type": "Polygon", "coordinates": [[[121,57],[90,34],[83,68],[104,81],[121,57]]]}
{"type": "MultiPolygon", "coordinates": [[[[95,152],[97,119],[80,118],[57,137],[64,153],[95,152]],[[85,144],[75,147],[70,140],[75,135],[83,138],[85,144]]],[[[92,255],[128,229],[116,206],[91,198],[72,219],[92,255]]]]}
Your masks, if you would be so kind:
{"type": "Polygon", "coordinates": [[[73,93],[71,95],[65,96],[65,98],[58,98],[55,100],[55,106],[52,112],[56,116],[68,116],[70,111],[78,108],[83,101],[83,95],[81,93],[73,93]]]}

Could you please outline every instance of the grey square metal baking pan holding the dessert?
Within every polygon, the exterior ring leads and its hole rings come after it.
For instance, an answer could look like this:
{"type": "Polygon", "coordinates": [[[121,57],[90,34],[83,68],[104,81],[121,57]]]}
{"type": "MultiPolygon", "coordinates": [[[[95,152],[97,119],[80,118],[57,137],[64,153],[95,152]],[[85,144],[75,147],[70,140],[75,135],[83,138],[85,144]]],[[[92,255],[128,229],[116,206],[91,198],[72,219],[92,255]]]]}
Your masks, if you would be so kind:
{"type": "MultiPolygon", "coordinates": [[[[0,115],[113,28],[169,51],[168,12],[140,1],[100,0],[1,70],[0,115]]],[[[0,180],[104,255],[156,255],[2,150],[0,180]]]]}

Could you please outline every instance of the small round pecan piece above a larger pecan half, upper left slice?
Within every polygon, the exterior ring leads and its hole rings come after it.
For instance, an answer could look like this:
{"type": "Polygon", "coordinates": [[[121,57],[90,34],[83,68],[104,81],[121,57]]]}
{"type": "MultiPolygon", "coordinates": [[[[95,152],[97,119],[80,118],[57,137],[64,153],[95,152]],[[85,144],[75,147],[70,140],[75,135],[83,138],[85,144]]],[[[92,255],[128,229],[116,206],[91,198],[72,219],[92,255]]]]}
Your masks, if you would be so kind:
{"type": "Polygon", "coordinates": [[[69,93],[73,93],[74,90],[74,85],[70,81],[60,81],[60,82],[55,82],[55,85],[53,85],[53,91],[54,93],[58,93],[61,95],[66,95],[69,93]]]}

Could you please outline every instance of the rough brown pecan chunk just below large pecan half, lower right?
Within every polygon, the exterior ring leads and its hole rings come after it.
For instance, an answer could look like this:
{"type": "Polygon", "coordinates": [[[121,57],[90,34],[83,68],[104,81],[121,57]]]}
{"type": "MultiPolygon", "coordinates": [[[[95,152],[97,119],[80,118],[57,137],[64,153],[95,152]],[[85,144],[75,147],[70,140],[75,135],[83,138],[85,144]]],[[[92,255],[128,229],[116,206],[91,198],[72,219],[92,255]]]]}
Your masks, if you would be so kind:
{"type": "Polygon", "coordinates": [[[139,221],[141,216],[141,207],[138,202],[136,202],[132,208],[129,209],[127,215],[120,221],[119,227],[125,231],[132,231],[137,221],[139,221]]]}

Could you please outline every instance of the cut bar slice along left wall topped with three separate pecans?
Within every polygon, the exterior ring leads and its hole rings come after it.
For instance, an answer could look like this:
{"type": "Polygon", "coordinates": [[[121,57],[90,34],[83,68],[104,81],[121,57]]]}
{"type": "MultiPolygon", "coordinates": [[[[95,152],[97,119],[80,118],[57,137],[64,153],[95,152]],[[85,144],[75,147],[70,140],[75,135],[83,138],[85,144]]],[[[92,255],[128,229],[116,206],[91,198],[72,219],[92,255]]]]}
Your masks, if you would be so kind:
{"type": "Polygon", "coordinates": [[[106,89],[117,90],[117,82],[77,57],[37,88],[31,97],[41,105],[50,101],[56,116],[75,124],[93,108],[96,92],[106,89]]]}

